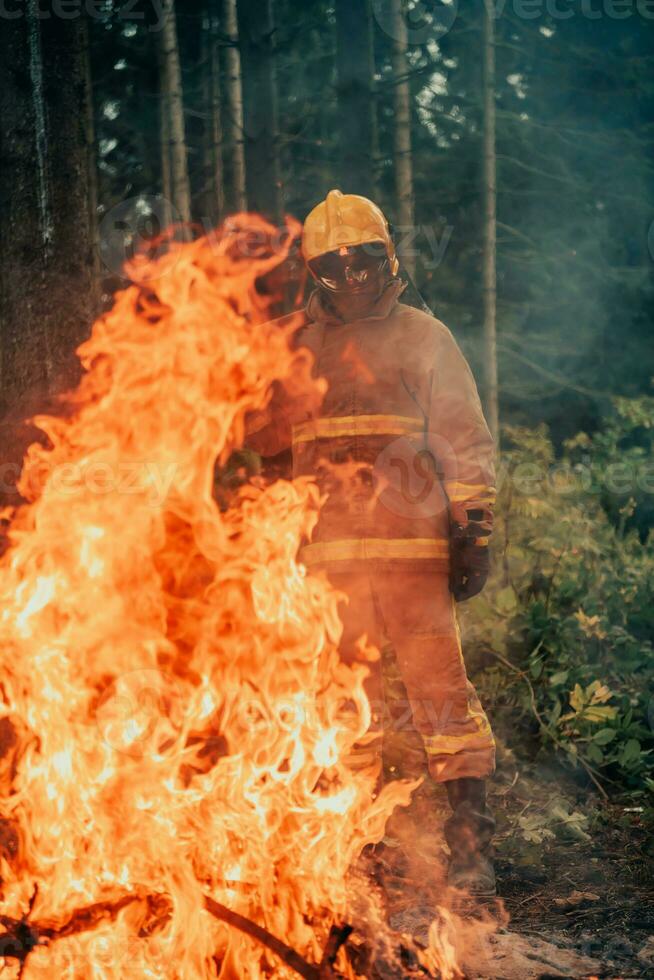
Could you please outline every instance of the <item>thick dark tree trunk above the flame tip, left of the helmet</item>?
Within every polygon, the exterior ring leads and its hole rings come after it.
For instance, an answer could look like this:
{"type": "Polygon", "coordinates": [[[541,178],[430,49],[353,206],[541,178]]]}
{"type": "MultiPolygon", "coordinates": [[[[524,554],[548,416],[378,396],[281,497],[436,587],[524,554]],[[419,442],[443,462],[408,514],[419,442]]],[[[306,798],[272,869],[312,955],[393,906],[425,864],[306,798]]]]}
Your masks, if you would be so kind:
{"type": "Polygon", "coordinates": [[[243,65],[248,206],[273,221],[283,214],[279,161],[273,0],[238,0],[243,65]]]}

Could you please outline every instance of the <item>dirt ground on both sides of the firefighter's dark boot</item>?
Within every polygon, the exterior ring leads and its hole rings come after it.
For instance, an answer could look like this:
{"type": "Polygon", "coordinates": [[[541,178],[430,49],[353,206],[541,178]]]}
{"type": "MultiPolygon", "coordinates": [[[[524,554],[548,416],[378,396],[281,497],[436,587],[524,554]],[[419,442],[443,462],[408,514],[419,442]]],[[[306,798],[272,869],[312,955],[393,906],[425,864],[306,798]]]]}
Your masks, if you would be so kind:
{"type": "MultiPolygon", "coordinates": [[[[654,977],[654,826],[646,810],[603,800],[556,761],[527,767],[507,750],[491,805],[501,901],[485,914],[496,924],[499,958],[489,965],[486,956],[466,975],[654,977]],[[594,961],[592,971],[577,954],[594,961]]],[[[399,932],[424,936],[434,903],[448,907],[441,834],[448,812],[440,789],[419,790],[378,848],[375,873],[399,932]]]]}

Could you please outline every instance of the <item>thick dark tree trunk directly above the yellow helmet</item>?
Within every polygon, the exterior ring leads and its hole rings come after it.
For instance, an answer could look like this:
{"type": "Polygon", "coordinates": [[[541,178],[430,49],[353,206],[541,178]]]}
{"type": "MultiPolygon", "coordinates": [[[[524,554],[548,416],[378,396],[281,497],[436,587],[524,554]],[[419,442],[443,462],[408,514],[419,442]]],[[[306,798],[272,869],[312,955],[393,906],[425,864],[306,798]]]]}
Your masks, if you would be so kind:
{"type": "Polygon", "coordinates": [[[369,0],[336,0],[341,190],[374,198],[372,49],[369,0]]]}

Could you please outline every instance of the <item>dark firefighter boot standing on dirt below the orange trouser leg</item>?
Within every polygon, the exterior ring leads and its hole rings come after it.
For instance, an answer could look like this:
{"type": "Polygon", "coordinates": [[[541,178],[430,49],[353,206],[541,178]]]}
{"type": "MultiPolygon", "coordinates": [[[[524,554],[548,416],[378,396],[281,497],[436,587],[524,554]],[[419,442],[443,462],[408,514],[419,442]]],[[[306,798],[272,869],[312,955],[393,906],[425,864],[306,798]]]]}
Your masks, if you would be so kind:
{"type": "Polygon", "coordinates": [[[445,822],[451,853],[447,883],[478,898],[492,897],[495,820],[486,804],[486,783],[483,779],[451,779],[445,787],[452,807],[452,816],[445,822]]]}

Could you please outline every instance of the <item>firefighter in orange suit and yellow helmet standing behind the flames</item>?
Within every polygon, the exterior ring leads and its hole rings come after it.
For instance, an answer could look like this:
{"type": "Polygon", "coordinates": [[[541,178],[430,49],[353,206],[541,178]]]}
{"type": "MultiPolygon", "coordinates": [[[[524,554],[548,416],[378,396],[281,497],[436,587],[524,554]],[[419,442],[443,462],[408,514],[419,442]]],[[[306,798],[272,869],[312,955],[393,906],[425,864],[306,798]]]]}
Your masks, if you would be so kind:
{"type": "MultiPolygon", "coordinates": [[[[290,442],[294,476],[317,479],[325,502],[300,558],[347,596],[348,662],[364,656],[364,633],[392,645],[429,773],[452,808],[448,882],[492,895],[495,744],[466,675],[455,602],[488,574],[493,441],[452,334],[401,302],[389,226],[372,201],[331,191],[306,219],[302,252],[316,289],[297,343],[327,393],[319,410],[273,402],[249,441],[268,455],[290,442]]],[[[381,673],[371,666],[368,693],[383,731],[398,706],[385,703],[381,673]]],[[[362,753],[358,764],[370,762],[362,753]]]]}

